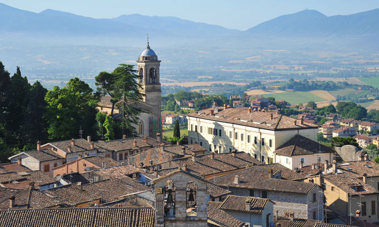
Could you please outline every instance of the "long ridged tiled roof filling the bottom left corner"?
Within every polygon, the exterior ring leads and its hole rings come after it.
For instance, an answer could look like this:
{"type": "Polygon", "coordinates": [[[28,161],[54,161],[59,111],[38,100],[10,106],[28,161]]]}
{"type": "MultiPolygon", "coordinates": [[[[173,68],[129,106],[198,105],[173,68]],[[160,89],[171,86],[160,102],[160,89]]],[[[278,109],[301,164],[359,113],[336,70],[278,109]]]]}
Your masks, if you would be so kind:
{"type": "Polygon", "coordinates": [[[3,227],[155,227],[155,211],[142,207],[21,209],[0,211],[0,220],[3,227]]]}

